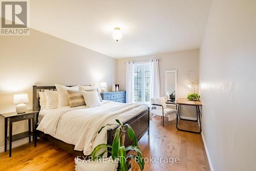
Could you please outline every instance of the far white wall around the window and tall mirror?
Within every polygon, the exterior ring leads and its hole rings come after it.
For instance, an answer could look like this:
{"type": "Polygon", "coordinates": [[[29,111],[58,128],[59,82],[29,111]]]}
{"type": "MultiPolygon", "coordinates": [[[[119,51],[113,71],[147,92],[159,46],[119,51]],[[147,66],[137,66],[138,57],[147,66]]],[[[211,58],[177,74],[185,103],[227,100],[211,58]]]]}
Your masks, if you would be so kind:
{"type": "MultiPolygon", "coordinates": [[[[173,53],[164,53],[158,55],[141,56],[135,58],[118,59],[117,82],[121,90],[125,90],[125,72],[127,61],[148,61],[150,59],[159,59],[160,89],[161,96],[165,96],[165,71],[177,70],[178,98],[186,98],[189,92],[193,92],[187,87],[190,81],[196,83],[196,92],[198,92],[199,82],[199,50],[187,50],[173,53]]],[[[195,109],[190,106],[182,109],[184,116],[196,117],[195,109]]]]}

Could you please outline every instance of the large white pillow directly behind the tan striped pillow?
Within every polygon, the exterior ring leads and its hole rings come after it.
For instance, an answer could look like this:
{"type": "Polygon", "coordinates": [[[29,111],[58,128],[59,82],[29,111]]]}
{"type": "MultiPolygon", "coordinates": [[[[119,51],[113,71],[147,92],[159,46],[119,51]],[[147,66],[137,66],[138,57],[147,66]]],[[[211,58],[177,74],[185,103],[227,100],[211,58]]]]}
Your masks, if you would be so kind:
{"type": "Polygon", "coordinates": [[[55,84],[58,92],[58,108],[69,105],[69,94],[67,90],[79,90],[78,86],[66,87],[59,84],[55,84]]]}

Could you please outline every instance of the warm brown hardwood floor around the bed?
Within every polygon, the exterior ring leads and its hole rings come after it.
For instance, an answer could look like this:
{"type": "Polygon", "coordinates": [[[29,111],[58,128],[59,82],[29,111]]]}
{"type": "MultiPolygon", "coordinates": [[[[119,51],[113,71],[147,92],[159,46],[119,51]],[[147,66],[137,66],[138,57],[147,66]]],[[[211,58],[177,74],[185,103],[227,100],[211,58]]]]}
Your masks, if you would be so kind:
{"type": "MultiPolygon", "coordinates": [[[[196,131],[195,122],[180,124],[183,129],[196,131]]],[[[145,163],[144,170],[210,170],[201,135],[178,131],[176,121],[168,122],[167,118],[163,127],[160,117],[153,118],[150,129],[150,136],[144,135],[139,141],[143,156],[179,158],[179,163],[145,163]]],[[[31,143],[13,148],[11,158],[8,152],[0,153],[0,170],[74,170],[74,158],[38,140],[37,147],[31,143]]],[[[132,170],[139,170],[138,165],[132,163],[132,170]]]]}

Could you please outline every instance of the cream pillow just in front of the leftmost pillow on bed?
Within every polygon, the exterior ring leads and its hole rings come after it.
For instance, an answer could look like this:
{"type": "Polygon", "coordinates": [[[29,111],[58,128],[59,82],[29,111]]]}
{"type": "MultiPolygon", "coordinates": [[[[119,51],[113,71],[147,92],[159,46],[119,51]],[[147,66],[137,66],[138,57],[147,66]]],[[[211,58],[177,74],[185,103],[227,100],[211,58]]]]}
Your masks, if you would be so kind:
{"type": "Polygon", "coordinates": [[[46,109],[58,108],[58,92],[52,90],[45,90],[46,94],[46,109]]]}

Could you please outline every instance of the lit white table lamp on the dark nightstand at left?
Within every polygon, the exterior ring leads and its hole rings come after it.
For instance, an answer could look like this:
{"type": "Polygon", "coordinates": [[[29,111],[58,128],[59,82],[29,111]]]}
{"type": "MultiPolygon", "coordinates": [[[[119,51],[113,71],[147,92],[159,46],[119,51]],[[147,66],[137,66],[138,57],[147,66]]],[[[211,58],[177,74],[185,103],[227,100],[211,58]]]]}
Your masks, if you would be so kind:
{"type": "Polygon", "coordinates": [[[23,94],[14,94],[13,103],[16,105],[16,112],[18,114],[25,113],[27,111],[27,105],[25,103],[29,102],[29,97],[27,93],[23,94]]]}

